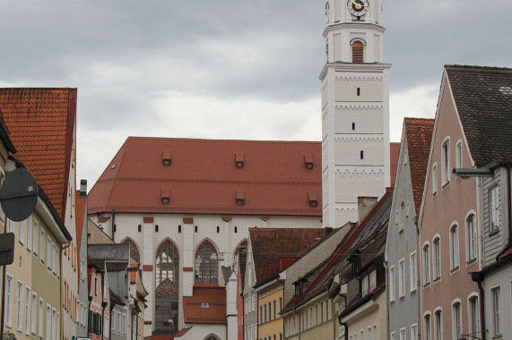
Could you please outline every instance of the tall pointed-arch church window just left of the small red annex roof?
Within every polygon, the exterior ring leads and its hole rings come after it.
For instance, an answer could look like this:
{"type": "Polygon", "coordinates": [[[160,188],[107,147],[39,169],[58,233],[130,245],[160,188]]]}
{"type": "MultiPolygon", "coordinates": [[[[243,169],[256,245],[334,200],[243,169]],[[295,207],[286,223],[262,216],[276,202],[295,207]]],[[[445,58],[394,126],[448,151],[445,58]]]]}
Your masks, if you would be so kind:
{"type": "Polygon", "coordinates": [[[165,241],[156,252],[155,330],[178,332],[179,253],[165,241]]]}

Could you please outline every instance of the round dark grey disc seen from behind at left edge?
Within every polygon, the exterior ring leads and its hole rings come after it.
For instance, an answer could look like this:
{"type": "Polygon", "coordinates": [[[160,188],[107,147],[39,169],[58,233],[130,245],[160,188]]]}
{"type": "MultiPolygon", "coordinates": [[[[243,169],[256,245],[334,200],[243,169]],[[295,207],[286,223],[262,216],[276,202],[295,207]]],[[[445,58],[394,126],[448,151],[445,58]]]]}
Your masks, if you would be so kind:
{"type": "Polygon", "coordinates": [[[7,217],[21,222],[32,214],[38,202],[39,188],[30,171],[18,168],[7,174],[0,189],[0,204],[7,217]]]}

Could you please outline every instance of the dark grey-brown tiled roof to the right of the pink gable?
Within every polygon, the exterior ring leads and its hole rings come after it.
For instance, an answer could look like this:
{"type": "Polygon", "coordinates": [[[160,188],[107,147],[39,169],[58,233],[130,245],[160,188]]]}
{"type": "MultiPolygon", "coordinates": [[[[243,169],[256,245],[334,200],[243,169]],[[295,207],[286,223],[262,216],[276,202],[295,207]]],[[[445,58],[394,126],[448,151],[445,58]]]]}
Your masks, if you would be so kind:
{"type": "Polygon", "coordinates": [[[512,159],[512,69],[446,65],[471,155],[477,167],[512,159]]]}

